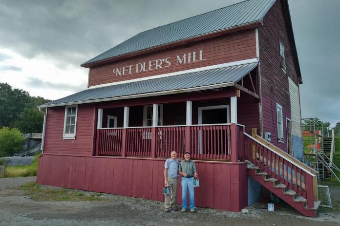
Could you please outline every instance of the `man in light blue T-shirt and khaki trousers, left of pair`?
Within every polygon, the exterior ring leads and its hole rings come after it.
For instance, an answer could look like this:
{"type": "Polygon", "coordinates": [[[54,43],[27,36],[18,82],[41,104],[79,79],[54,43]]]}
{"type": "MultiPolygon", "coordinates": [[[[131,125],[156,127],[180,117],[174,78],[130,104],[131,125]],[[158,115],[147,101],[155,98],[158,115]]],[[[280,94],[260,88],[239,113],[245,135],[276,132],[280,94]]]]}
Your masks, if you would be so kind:
{"type": "Polygon", "coordinates": [[[177,195],[177,180],[178,180],[178,165],[176,159],[177,152],[171,152],[171,158],[167,159],[164,164],[164,186],[170,187],[170,194],[165,195],[164,212],[169,212],[169,209],[178,210],[175,206],[177,195]]]}

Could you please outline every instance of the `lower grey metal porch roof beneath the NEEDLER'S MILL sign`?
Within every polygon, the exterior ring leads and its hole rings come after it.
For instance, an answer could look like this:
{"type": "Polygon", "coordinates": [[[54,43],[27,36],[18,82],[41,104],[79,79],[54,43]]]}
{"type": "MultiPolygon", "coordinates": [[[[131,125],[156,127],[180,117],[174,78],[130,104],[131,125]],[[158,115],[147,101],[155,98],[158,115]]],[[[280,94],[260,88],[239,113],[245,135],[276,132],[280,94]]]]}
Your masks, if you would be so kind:
{"type": "Polygon", "coordinates": [[[86,89],[38,107],[84,104],[156,95],[178,94],[233,86],[257,66],[257,61],[191,73],[86,89]]]}

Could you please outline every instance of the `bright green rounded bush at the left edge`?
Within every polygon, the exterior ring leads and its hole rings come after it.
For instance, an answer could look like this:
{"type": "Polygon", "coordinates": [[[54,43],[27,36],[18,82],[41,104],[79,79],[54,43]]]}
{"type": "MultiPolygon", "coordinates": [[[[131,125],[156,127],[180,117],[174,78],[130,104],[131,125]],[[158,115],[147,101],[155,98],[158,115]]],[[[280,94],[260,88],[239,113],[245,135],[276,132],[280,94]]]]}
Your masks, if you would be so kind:
{"type": "Polygon", "coordinates": [[[21,136],[17,128],[10,129],[2,127],[0,129],[0,157],[11,156],[13,153],[23,149],[25,138],[21,136]]]}

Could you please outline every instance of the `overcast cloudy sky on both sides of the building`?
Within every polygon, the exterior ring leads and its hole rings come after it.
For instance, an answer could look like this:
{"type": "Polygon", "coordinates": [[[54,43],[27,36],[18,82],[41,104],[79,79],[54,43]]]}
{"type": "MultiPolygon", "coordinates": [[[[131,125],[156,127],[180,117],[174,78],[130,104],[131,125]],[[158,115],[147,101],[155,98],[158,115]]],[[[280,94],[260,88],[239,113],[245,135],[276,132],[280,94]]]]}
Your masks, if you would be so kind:
{"type": "MultiPolygon", "coordinates": [[[[241,0],[0,0],[0,82],[58,99],[86,89],[79,65],[139,32],[241,0]]],[[[302,117],[340,122],[340,0],[289,0],[302,117]]]]}

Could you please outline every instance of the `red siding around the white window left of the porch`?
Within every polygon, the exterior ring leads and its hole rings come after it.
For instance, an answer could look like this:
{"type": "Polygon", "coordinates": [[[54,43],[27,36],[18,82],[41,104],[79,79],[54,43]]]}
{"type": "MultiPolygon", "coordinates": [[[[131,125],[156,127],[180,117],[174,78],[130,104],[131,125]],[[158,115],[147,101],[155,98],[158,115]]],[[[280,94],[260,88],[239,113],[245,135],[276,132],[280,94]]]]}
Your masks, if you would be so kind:
{"type": "Polygon", "coordinates": [[[44,153],[92,155],[94,105],[78,105],[76,138],[64,140],[65,107],[48,108],[44,153]]]}

